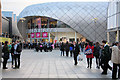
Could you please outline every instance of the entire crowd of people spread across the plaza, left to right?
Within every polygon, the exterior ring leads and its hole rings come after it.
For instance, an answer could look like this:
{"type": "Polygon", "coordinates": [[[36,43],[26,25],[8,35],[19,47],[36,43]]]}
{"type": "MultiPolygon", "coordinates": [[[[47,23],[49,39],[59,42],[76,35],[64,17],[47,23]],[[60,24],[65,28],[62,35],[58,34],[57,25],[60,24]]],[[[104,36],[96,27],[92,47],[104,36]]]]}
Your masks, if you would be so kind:
{"type": "MultiPolygon", "coordinates": [[[[7,61],[11,54],[12,57],[12,68],[20,68],[20,55],[22,53],[22,48],[24,49],[35,49],[37,52],[44,50],[45,52],[52,51],[54,47],[53,43],[50,42],[38,42],[38,43],[21,43],[16,41],[13,43],[2,43],[2,58],[3,58],[3,69],[8,69],[6,67],[7,61]]],[[[112,71],[112,78],[116,79],[118,72],[118,78],[120,78],[120,43],[115,42],[112,45],[107,44],[107,41],[103,40],[102,44],[99,42],[66,42],[59,43],[57,47],[60,48],[61,56],[74,57],[74,65],[78,64],[78,56],[81,52],[86,55],[87,68],[92,69],[92,60],[96,58],[96,68],[102,68],[102,75],[107,75],[108,69],[112,71]],[[66,55],[65,55],[65,53],[66,55]],[[113,63],[111,67],[109,62],[113,63]],[[117,68],[119,67],[119,69],[117,68]],[[118,70],[118,71],[117,71],[118,70]]]]}

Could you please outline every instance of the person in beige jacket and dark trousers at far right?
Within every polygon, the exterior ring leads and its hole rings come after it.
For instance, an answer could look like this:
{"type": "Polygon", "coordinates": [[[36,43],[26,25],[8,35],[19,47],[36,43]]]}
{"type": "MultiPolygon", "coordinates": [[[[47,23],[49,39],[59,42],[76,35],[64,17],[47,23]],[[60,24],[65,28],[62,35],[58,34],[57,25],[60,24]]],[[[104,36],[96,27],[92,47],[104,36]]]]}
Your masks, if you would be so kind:
{"type": "Polygon", "coordinates": [[[116,42],[112,47],[112,57],[111,57],[111,61],[113,63],[112,79],[117,79],[116,78],[117,72],[118,72],[118,78],[120,79],[120,58],[119,57],[120,57],[119,43],[116,42]],[[117,67],[119,67],[119,69],[117,69],[117,67]]]}

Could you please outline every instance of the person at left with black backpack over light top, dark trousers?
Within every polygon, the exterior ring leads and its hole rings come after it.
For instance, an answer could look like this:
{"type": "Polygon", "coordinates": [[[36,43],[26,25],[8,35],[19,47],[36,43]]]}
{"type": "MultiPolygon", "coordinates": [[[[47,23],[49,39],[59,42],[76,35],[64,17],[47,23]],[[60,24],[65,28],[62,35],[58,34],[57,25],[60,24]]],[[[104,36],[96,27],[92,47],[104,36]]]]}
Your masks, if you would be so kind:
{"type": "Polygon", "coordinates": [[[20,55],[22,52],[22,46],[20,45],[19,41],[15,43],[14,46],[14,58],[15,58],[15,68],[14,69],[19,69],[20,68],[20,55]]]}

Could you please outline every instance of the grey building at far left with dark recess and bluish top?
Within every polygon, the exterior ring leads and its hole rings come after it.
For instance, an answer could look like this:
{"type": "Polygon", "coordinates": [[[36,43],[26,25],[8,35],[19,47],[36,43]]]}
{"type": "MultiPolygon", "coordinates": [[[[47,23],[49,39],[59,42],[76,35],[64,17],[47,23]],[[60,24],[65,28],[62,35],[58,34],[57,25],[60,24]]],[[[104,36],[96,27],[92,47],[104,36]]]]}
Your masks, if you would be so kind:
{"type": "Polygon", "coordinates": [[[13,41],[21,38],[17,28],[17,17],[12,11],[2,11],[2,37],[13,41]]]}

